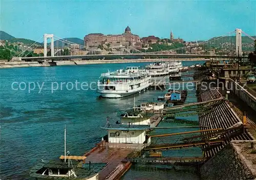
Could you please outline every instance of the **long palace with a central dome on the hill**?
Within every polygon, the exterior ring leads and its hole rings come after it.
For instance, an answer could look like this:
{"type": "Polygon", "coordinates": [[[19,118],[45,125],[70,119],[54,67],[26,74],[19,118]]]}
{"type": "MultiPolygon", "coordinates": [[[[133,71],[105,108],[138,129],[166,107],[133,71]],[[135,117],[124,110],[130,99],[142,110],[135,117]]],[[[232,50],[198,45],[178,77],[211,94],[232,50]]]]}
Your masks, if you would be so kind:
{"type": "Polygon", "coordinates": [[[91,33],[84,36],[84,45],[90,47],[97,47],[102,43],[120,43],[124,46],[136,46],[140,43],[140,37],[132,34],[131,28],[127,26],[123,34],[118,35],[104,35],[101,33],[91,33]]]}

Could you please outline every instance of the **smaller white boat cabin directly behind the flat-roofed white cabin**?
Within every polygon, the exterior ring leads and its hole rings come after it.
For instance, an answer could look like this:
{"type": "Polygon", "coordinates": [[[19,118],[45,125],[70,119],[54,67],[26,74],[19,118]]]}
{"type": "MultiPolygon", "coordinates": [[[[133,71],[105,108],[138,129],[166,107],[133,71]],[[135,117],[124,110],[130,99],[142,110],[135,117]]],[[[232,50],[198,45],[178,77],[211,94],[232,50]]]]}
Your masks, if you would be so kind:
{"type": "Polygon", "coordinates": [[[129,123],[131,125],[150,125],[150,117],[141,115],[140,113],[126,113],[120,118],[120,120],[121,124],[126,125],[129,123]]]}

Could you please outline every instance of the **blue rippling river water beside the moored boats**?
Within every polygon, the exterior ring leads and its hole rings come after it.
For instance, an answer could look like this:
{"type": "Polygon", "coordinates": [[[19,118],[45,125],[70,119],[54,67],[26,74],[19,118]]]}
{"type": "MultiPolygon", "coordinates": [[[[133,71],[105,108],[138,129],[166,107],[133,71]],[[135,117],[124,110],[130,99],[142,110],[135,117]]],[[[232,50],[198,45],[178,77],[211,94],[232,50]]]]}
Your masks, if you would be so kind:
{"type": "MultiPolygon", "coordinates": [[[[203,61],[183,61],[183,66],[203,61]]],[[[101,73],[146,63],[91,64],[0,70],[1,162],[0,179],[29,179],[29,170],[42,160],[63,154],[67,126],[67,150],[82,155],[106,134],[106,117],[115,123],[131,108],[134,97],[101,99],[96,82],[101,73]],[[61,85],[62,84],[62,85],[61,85]]],[[[137,94],[136,103],[153,101],[161,91],[137,94]]],[[[187,98],[195,102],[196,98],[187,98]]],[[[172,124],[168,124],[170,126],[172,124]]],[[[166,130],[165,130],[166,131],[166,130]]],[[[174,169],[132,167],[124,179],[199,178],[174,169]],[[154,173],[153,173],[154,172],[154,173]],[[182,173],[181,173],[182,172],[182,173]]]]}

